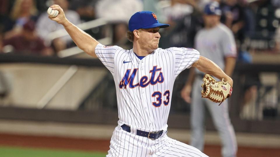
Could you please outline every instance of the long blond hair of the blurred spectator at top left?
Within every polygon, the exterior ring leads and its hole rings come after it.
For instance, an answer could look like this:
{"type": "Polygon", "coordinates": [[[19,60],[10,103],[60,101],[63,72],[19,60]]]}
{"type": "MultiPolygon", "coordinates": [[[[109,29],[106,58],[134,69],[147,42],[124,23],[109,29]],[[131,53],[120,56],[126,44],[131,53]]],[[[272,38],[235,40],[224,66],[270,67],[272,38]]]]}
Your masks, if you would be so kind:
{"type": "MultiPolygon", "coordinates": [[[[11,19],[16,20],[20,17],[21,12],[22,12],[21,4],[22,4],[23,1],[24,0],[16,0],[15,1],[14,5],[13,5],[13,8],[12,8],[12,11],[11,11],[11,15],[10,15],[11,19]]],[[[29,13],[30,13],[30,15],[36,15],[38,10],[36,8],[34,0],[32,0],[32,3],[33,3],[33,5],[31,6],[31,9],[29,10],[29,13]]]]}

